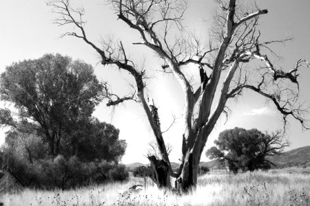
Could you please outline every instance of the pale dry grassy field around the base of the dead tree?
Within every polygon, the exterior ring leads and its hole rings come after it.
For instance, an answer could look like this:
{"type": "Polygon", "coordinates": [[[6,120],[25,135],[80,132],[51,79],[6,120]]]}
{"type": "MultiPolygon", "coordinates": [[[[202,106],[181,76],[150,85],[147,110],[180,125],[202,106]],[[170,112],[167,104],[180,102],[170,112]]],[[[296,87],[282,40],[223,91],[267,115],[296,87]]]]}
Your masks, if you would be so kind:
{"type": "Polygon", "coordinates": [[[229,175],[211,172],[198,179],[198,187],[178,196],[158,190],[147,181],[146,190],[125,191],[143,179],[109,183],[77,190],[23,190],[2,194],[4,205],[310,205],[310,169],[270,170],[229,175]]]}

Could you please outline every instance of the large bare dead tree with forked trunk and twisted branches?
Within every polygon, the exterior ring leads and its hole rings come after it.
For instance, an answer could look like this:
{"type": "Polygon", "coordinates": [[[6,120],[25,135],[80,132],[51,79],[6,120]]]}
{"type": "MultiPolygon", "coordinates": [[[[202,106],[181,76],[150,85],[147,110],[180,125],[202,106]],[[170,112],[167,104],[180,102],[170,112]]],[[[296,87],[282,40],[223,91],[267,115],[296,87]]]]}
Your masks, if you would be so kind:
{"type": "Polygon", "coordinates": [[[145,100],[146,71],[138,70],[134,62],[127,58],[121,41],[106,41],[101,49],[102,46],[87,38],[83,9],[72,8],[69,0],[54,0],[49,5],[57,15],[56,24],[74,25],[79,30],[64,36],[81,38],[98,52],[102,65],[115,65],[128,71],[134,78],[136,91],[130,95],[119,97],[106,91],[109,99],[107,106],[115,106],[125,100],[134,100],[143,106],[161,152],[161,160],[149,157],[151,165],[154,165],[154,176],[158,177],[154,180],[159,186],[171,187],[169,176],[177,179],[176,187],[182,191],[196,186],[198,163],[209,134],[221,113],[227,114],[227,100],[242,95],[245,89],[273,102],[282,113],[284,124],[287,117],[291,116],[300,122],[302,128],[309,129],[304,108],[298,103],[298,71],[301,67],[309,67],[309,63],[298,60],[293,69],[286,71],[273,66],[270,60],[273,52],[269,45],[289,39],[260,41],[258,18],[267,14],[267,10],[254,7],[254,10],[244,11],[240,8],[242,3],[236,5],[236,0],[217,0],[220,9],[211,28],[210,44],[204,46],[195,35],[183,35],[182,20],[187,8],[185,0],[107,1],[116,11],[118,19],[141,36],[141,42],[134,45],[144,46],[157,54],[164,62],[163,71],[172,73],[183,89],[185,124],[183,137],[180,137],[182,158],[177,173],[172,171],[170,165],[160,118],[158,114],[154,115],[154,108],[145,100]],[[198,88],[194,88],[181,70],[189,64],[200,71],[198,88]],[[242,67],[244,65],[247,67],[242,67]],[[220,79],[224,79],[223,83],[220,79]],[[218,100],[214,98],[216,91],[220,92],[218,100]],[[212,111],[211,108],[215,109],[212,111]]]}

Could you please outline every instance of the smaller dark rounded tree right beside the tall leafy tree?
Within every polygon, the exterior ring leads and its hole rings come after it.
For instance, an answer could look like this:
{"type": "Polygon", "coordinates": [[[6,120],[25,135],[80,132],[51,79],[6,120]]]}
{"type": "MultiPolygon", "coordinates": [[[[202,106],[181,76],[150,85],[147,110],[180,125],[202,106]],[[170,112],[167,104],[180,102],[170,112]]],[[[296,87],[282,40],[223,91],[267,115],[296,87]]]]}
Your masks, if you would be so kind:
{"type": "Polygon", "coordinates": [[[63,139],[61,146],[66,156],[75,155],[81,161],[105,159],[118,162],[125,154],[127,144],[118,139],[119,130],[112,124],[92,121],[82,122],[79,127],[63,139]]]}

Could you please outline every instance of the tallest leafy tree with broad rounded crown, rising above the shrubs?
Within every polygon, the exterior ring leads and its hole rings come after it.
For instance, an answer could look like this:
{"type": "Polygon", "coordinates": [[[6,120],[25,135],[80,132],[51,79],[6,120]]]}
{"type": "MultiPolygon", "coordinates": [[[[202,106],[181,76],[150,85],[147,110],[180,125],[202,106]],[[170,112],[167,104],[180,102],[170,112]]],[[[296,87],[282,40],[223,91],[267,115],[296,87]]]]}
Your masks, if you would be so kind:
{"type": "Polygon", "coordinates": [[[1,100],[12,102],[21,119],[14,120],[8,109],[1,109],[0,124],[40,130],[50,155],[59,154],[64,133],[91,117],[103,89],[91,65],[60,54],[15,62],[0,80],[1,100]]]}

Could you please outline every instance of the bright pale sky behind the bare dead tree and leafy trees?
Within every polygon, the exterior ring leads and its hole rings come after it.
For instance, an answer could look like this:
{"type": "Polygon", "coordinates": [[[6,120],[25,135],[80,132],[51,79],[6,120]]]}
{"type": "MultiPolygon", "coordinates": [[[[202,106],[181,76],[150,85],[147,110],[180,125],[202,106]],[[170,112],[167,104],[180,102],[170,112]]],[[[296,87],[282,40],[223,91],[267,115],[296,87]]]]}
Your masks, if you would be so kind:
{"type": "MultiPolygon", "coordinates": [[[[152,76],[147,82],[147,93],[159,108],[161,126],[165,130],[172,122],[172,114],[180,117],[183,112],[183,96],[178,82],[167,74],[156,72],[161,69],[158,58],[144,47],[131,44],[133,41],[139,41],[138,34],[130,30],[123,22],[117,21],[117,16],[107,9],[108,6],[104,2],[103,0],[72,0],[74,5],[85,8],[87,20],[85,30],[89,39],[94,43],[100,43],[101,38],[113,34],[123,42],[130,57],[138,64],[142,65],[145,59],[145,68],[149,71],[149,76],[152,76]]],[[[260,31],[265,39],[294,36],[293,41],[274,48],[283,57],[275,65],[289,70],[299,58],[310,60],[310,1],[298,0],[292,3],[289,0],[260,0],[258,5],[262,9],[269,10],[269,14],[260,19],[260,31]]],[[[0,8],[2,8],[0,12],[0,72],[3,72],[12,62],[39,58],[46,53],[60,53],[92,64],[98,78],[109,82],[114,93],[120,95],[128,93],[129,90],[124,88],[128,88],[132,80],[127,78],[127,73],[120,72],[116,68],[97,65],[98,55],[80,39],[59,38],[61,34],[72,31],[72,27],[54,25],[54,14],[44,1],[1,0],[0,8]]],[[[211,24],[208,19],[212,12],[214,12],[213,0],[189,0],[185,25],[196,30],[200,36],[205,36],[211,24]]],[[[310,69],[306,70],[300,71],[300,94],[302,102],[309,105],[310,69]]],[[[219,119],[205,149],[211,147],[218,133],[227,128],[238,126],[247,129],[258,128],[269,132],[281,128],[281,116],[272,104],[266,104],[264,98],[254,93],[244,94],[242,98],[229,103],[232,110],[229,121],[224,125],[225,117],[219,119]]],[[[94,116],[121,130],[120,138],[126,139],[128,144],[123,163],[136,161],[147,163],[145,158],[147,144],[153,140],[153,135],[143,108],[134,102],[126,102],[116,107],[112,115],[112,109],[107,108],[105,103],[103,102],[96,108],[94,116]]],[[[289,120],[291,120],[288,135],[291,141],[289,149],[309,146],[310,131],[302,132],[298,122],[293,119],[289,120]]],[[[5,130],[3,128],[0,131],[0,144],[4,141],[5,130]]],[[[173,146],[170,157],[172,161],[177,162],[180,157],[182,133],[181,119],[178,119],[174,127],[165,133],[165,141],[173,146]]],[[[207,161],[205,155],[202,156],[201,161],[207,161]]]]}

